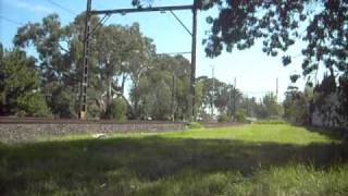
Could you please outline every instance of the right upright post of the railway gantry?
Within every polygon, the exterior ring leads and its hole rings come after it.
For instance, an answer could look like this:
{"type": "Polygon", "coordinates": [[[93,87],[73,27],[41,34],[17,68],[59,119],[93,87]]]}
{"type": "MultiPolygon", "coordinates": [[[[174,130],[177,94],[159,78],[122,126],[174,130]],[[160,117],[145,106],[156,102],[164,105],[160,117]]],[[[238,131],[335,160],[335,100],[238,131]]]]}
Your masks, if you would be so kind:
{"type": "Polygon", "coordinates": [[[195,85],[196,85],[196,37],[197,37],[197,8],[196,3],[192,8],[192,48],[191,48],[191,120],[196,120],[196,91],[195,91],[195,85]]]}

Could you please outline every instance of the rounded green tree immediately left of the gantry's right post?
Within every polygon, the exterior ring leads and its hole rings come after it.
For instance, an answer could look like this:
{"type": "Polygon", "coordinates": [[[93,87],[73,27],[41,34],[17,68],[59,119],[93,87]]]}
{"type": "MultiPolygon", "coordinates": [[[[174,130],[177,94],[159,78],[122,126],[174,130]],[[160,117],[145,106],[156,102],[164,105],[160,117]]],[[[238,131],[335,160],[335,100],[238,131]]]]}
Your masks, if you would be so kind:
{"type": "MultiPolygon", "coordinates": [[[[137,106],[140,117],[157,120],[187,120],[189,101],[189,61],[184,57],[158,56],[151,68],[141,72],[141,78],[134,84],[130,99],[137,106]]],[[[201,105],[200,90],[197,93],[197,110],[201,105]]]]}

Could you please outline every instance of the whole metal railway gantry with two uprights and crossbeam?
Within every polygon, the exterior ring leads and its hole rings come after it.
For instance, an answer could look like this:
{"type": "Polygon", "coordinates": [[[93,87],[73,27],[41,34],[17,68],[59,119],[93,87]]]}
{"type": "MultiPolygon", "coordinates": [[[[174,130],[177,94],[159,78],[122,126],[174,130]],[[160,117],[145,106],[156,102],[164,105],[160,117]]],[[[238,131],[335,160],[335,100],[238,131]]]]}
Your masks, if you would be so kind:
{"type": "MultiPolygon", "coordinates": [[[[191,120],[196,119],[195,111],[195,82],[196,82],[196,38],[197,38],[197,5],[196,3],[191,5],[173,5],[173,7],[151,7],[151,8],[136,8],[136,9],[114,9],[114,10],[91,10],[91,0],[87,0],[86,9],[86,22],[85,22],[85,36],[84,36],[84,64],[83,64],[83,75],[82,75],[82,87],[80,87],[80,112],[79,119],[87,119],[87,86],[88,86],[88,56],[89,56],[89,40],[92,36],[90,30],[90,16],[98,14],[126,14],[126,13],[137,13],[137,12],[164,12],[164,11],[176,11],[176,10],[191,10],[192,11],[192,33],[191,38],[191,74],[190,74],[190,112],[191,120]]],[[[173,13],[172,13],[173,14],[173,13]]],[[[175,14],[174,14],[175,15],[175,14]]],[[[178,19],[177,19],[178,20],[178,19]]],[[[183,24],[182,24],[183,25],[183,24]]],[[[185,25],[184,25],[185,26],[185,25]]],[[[188,29],[187,29],[188,30],[188,29]]]]}

